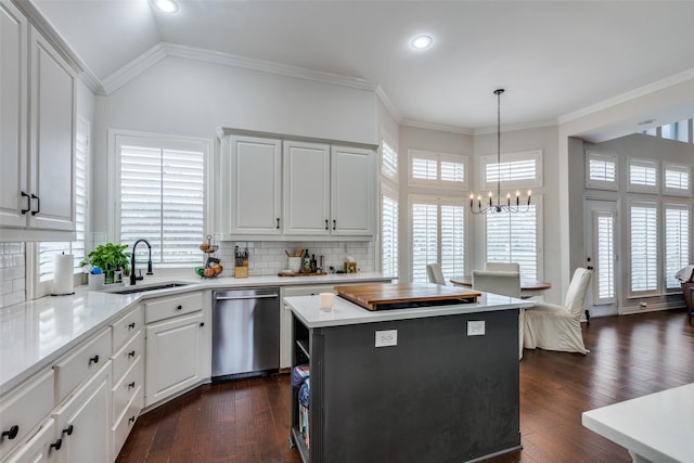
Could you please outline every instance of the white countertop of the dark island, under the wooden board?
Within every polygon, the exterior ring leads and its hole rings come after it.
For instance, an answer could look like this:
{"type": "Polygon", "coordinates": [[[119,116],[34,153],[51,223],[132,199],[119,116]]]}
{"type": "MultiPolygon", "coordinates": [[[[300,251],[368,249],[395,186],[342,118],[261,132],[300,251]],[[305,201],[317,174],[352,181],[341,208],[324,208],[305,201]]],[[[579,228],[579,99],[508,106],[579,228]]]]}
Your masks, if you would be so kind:
{"type": "Polygon", "coordinates": [[[359,323],[375,323],[393,320],[421,319],[426,317],[480,313],[532,307],[535,304],[498,294],[481,293],[475,304],[422,307],[412,309],[376,310],[363,309],[356,304],[335,297],[330,311],[319,309],[319,296],[286,297],[285,303],[296,317],[309,329],[340,326],[359,323]]]}

